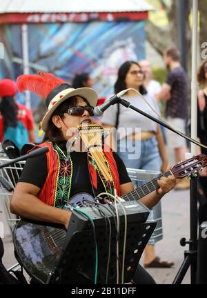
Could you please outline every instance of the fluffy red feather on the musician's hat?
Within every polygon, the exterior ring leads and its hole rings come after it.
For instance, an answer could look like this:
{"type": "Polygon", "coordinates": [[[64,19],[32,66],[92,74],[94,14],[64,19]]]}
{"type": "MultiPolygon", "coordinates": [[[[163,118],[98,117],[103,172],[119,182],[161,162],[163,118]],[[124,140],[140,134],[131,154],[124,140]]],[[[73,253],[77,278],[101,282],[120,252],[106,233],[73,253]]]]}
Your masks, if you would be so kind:
{"type": "Polygon", "coordinates": [[[20,92],[28,90],[44,99],[46,99],[52,89],[62,83],[66,83],[66,81],[48,72],[37,72],[37,75],[22,74],[17,78],[17,88],[20,92]]]}

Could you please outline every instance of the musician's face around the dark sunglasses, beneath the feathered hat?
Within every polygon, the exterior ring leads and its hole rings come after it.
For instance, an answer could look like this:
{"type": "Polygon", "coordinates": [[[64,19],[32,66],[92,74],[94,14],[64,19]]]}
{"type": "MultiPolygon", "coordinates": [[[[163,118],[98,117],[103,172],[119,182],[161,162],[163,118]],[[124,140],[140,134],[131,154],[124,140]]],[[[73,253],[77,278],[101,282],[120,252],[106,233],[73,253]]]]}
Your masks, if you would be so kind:
{"type": "MultiPolygon", "coordinates": [[[[87,106],[87,103],[83,100],[82,97],[77,96],[77,105],[76,106],[87,106]]],[[[68,107],[69,108],[69,107],[68,107]]],[[[70,108],[69,108],[70,109],[70,108]]],[[[92,123],[92,116],[89,115],[87,110],[83,110],[82,115],[68,115],[67,112],[64,113],[64,117],[61,119],[59,116],[54,115],[52,117],[53,123],[61,129],[64,139],[68,140],[72,137],[72,132],[77,131],[77,125],[86,123],[92,123]]]]}

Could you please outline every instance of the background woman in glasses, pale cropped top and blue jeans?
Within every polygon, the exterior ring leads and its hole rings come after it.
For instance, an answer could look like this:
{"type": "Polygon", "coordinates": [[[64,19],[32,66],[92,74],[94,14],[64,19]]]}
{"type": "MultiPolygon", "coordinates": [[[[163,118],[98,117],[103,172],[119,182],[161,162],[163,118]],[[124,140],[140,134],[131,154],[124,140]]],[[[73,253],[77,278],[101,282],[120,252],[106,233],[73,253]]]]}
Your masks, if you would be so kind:
{"type": "MultiPolygon", "coordinates": [[[[152,108],[159,112],[155,99],[146,92],[143,81],[144,73],[139,63],[126,61],[118,70],[115,93],[134,88],[144,95],[152,108]]],[[[122,98],[130,101],[132,106],[157,117],[134,90],[129,90],[122,98]]],[[[168,164],[166,149],[157,123],[120,104],[110,106],[104,112],[102,123],[104,126],[117,128],[117,152],[127,168],[161,170],[161,172],[166,170],[168,164]]],[[[144,265],[145,267],[170,267],[173,262],[163,261],[157,257],[154,246],[150,244],[146,246],[144,265]]]]}

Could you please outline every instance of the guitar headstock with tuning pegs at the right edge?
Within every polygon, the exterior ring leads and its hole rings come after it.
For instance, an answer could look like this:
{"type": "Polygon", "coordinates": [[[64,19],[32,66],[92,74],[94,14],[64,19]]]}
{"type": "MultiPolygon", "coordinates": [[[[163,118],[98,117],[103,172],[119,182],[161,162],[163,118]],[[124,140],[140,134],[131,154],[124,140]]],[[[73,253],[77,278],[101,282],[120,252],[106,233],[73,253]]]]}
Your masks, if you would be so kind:
{"type": "Polygon", "coordinates": [[[207,166],[207,156],[201,154],[177,163],[170,171],[176,178],[184,178],[191,175],[197,176],[198,172],[201,172],[205,166],[207,166]]]}

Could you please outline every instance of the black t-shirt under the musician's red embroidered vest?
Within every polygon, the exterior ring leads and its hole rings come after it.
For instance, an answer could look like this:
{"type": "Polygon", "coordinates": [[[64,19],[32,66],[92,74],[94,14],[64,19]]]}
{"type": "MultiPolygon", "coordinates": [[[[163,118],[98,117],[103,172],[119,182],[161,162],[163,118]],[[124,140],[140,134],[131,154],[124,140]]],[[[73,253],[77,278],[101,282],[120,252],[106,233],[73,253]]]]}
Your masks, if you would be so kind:
{"type": "MultiPolygon", "coordinates": [[[[120,159],[117,153],[113,152],[113,156],[117,163],[117,169],[119,172],[120,184],[131,182],[128,177],[128,172],[124,162],[120,159]]],[[[93,195],[92,186],[90,183],[90,175],[88,171],[88,161],[86,152],[71,152],[70,157],[72,159],[73,174],[72,174],[72,186],[70,190],[70,197],[78,192],[88,192],[93,195]]],[[[34,184],[39,188],[43,188],[48,175],[47,157],[46,154],[32,157],[26,161],[26,165],[23,168],[19,182],[27,182],[34,184]]],[[[105,192],[103,183],[97,175],[97,194],[105,192]]]]}

